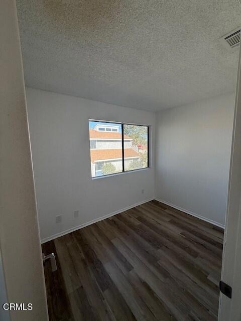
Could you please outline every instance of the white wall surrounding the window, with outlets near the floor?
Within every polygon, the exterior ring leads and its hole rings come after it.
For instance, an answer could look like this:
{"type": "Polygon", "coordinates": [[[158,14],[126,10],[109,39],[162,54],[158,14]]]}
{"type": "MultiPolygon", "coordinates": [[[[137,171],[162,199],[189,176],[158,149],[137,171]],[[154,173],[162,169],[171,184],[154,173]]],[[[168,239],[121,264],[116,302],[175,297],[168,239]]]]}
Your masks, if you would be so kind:
{"type": "Polygon", "coordinates": [[[42,240],[154,197],[153,168],[91,180],[88,119],[150,125],[155,137],[155,113],[30,88],[27,105],[42,240]]]}

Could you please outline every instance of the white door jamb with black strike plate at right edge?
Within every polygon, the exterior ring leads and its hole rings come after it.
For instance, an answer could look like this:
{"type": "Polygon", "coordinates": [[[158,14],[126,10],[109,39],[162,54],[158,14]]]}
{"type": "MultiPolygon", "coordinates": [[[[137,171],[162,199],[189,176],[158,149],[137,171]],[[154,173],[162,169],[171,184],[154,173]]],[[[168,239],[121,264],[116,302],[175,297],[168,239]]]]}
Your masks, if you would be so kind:
{"type": "Polygon", "coordinates": [[[231,298],[220,293],[219,321],[241,320],[241,74],[240,48],[229,173],[227,215],[221,280],[231,286],[231,298]]]}

